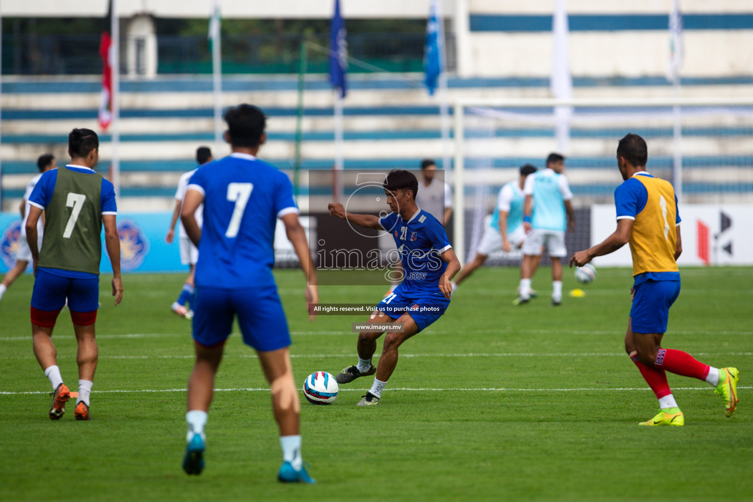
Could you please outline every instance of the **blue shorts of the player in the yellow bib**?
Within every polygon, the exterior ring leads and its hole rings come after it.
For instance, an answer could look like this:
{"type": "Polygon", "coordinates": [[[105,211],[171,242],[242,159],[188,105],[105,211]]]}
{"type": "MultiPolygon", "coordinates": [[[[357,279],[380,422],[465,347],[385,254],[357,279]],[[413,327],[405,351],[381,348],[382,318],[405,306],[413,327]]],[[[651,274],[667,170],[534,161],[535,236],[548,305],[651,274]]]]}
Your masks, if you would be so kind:
{"type": "Polygon", "coordinates": [[[680,281],[645,281],[634,286],[630,318],[633,333],[666,333],[669,307],[680,295],[680,281]]]}

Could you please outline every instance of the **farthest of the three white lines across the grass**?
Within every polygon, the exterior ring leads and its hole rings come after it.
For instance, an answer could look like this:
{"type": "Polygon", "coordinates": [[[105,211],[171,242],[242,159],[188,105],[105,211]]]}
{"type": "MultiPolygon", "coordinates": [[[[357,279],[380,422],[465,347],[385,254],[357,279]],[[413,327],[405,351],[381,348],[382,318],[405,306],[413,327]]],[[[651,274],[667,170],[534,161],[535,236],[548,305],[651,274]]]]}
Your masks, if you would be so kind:
{"type": "MultiPolygon", "coordinates": [[[[485,330],[472,330],[473,333],[537,333],[537,334],[563,334],[563,335],[622,335],[625,333],[624,329],[619,330],[527,330],[520,327],[503,327],[498,329],[485,329],[485,330]]],[[[446,330],[430,330],[424,335],[456,335],[457,331],[446,330]]],[[[232,333],[233,335],[239,335],[240,333],[232,333]]],[[[358,333],[351,333],[349,330],[339,331],[291,331],[291,336],[328,336],[328,335],[340,335],[340,336],[355,336],[358,333]]],[[[709,330],[683,330],[667,331],[668,335],[711,335],[711,336],[751,336],[753,331],[709,331],[709,330]]],[[[97,339],[110,339],[110,338],[154,338],[160,336],[185,336],[187,339],[191,339],[191,333],[128,333],[120,335],[97,335],[97,339]]],[[[19,342],[23,340],[31,340],[32,336],[0,336],[0,342],[19,342]]],[[[75,339],[73,335],[54,335],[53,339],[75,339]]]]}

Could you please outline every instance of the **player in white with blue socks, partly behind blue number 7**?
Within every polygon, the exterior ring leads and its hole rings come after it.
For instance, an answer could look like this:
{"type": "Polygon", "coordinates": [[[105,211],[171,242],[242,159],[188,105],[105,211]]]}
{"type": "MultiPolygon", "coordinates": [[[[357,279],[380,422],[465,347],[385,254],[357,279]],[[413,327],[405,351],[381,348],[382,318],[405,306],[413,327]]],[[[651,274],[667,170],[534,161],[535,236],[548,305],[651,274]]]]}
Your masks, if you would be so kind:
{"type": "MultiPolygon", "coordinates": [[[[209,150],[209,147],[197,148],[196,161],[199,164],[197,169],[204,164],[212,162],[212,151],[209,150]]],[[[165,236],[165,242],[167,242],[168,244],[171,244],[172,240],[175,239],[175,223],[178,221],[178,217],[181,214],[181,205],[183,205],[183,197],[186,193],[188,180],[191,179],[191,176],[194,175],[194,172],[196,172],[196,169],[194,169],[193,171],[184,172],[181,175],[180,180],[178,181],[178,190],[175,192],[175,209],[172,211],[170,230],[167,231],[167,235],[165,236]]],[[[200,205],[195,214],[196,221],[199,223],[199,227],[201,227],[203,221],[203,213],[204,206],[200,205]]],[[[199,260],[199,250],[191,242],[191,239],[188,239],[188,235],[186,233],[185,227],[183,227],[182,221],[181,226],[178,229],[178,245],[180,245],[181,250],[181,263],[189,266],[190,272],[188,272],[188,277],[183,284],[183,289],[181,290],[181,294],[178,297],[178,300],[175,300],[172,303],[170,310],[183,318],[191,319],[194,317],[194,301],[196,300],[196,291],[194,289],[194,273],[196,272],[196,262],[199,260]],[[188,304],[187,309],[186,303],[188,304]]]]}

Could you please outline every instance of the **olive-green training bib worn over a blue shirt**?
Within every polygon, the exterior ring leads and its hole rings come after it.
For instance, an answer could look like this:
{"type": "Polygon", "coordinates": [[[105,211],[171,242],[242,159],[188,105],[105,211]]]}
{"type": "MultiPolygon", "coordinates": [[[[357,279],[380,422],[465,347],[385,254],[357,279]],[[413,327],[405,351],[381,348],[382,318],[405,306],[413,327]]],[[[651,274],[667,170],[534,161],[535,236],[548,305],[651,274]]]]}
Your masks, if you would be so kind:
{"type": "Polygon", "coordinates": [[[38,266],[99,275],[102,175],[57,169],[38,266]]]}

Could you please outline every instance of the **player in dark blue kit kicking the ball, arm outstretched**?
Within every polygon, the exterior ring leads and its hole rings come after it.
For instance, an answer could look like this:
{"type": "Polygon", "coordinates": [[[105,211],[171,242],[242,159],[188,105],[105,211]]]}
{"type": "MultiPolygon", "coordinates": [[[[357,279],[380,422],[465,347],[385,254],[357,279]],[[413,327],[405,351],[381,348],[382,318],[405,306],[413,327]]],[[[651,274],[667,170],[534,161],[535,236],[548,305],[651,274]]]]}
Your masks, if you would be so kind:
{"type": "Polygon", "coordinates": [[[342,204],[328,205],[332,216],[360,227],[391,233],[405,272],[401,284],[383,298],[367,321],[370,324],[398,323],[404,330],[386,334],[379,367],[371,364],[371,357],[377,350],[377,339],[385,330],[359,333],[356,345],[358,364],[337,374],[337,382],[345,384],[376,373],[373,385],[358,406],[379,404],[384,386],[398,364],[398,348],[444,314],[453,291],[451,281],[460,269],[460,262],[442,224],[416,205],[416,176],[408,171],[393,170],[384,181],[384,190],[387,205],[392,209],[392,214],[384,218],[349,213],[342,204]]]}

